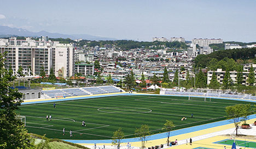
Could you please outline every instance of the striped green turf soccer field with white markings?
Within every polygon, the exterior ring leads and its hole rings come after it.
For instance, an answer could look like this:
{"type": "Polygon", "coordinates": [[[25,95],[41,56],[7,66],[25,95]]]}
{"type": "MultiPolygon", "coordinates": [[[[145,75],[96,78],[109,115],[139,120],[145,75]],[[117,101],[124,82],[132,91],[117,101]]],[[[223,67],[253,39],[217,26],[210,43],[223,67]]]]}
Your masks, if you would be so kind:
{"type": "MultiPolygon", "coordinates": [[[[111,139],[113,132],[121,127],[125,138],[134,137],[136,128],[142,124],[150,127],[152,134],[160,133],[166,120],[173,121],[175,129],[202,125],[226,119],[225,107],[245,103],[175,96],[113,96],[84,100],[21,105],[18,113],[26,116],[26,129],[48,138],[96,140],[111,139]],[[190,118],[194,114],[193,119],[190,118]],[[52,115],[46,121],[46,115],[52,115]],[[182,117],[187,120],[181,121],[182,117]],[[85,127],[82,121],[85,121],[85,127]],[[65,135],[62,129],[65,128],[65,135]],[[73,137],[69,137],[69,131],[73,137]]],[[[251,103],[255,104],[255,103],[251,103]]]]}

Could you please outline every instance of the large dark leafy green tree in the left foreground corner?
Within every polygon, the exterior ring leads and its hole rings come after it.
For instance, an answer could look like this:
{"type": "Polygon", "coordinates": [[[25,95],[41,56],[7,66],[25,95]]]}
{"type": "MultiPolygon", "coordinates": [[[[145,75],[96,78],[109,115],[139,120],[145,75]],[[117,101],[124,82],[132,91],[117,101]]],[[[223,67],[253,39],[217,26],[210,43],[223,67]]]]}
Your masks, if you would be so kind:
{"type": "Polygon", "coordinates": [[[15,113],[22,102],[22,93],[11,89],[10,83],[16,79],[11,71],[4,69],[4,57],[0,54],[0,146],[3,148],[29,148],[32,146],[30,135],[24,123],[15,113]]]}

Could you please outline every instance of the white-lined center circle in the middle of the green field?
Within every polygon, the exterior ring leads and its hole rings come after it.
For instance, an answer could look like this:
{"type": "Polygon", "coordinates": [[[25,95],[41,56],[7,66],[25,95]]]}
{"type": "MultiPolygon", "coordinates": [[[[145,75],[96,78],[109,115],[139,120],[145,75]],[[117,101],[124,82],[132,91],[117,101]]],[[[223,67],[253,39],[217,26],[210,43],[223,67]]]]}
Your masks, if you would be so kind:
{"type": "Polygon", "coordinates": [[[146,108],[135,108],[135,107],[105,107],[98,108],[98,111],[104,113],[117,113],[117,114],[142,114],[150,113],[152,110],[146,108]]]}

